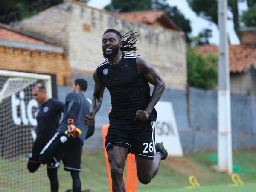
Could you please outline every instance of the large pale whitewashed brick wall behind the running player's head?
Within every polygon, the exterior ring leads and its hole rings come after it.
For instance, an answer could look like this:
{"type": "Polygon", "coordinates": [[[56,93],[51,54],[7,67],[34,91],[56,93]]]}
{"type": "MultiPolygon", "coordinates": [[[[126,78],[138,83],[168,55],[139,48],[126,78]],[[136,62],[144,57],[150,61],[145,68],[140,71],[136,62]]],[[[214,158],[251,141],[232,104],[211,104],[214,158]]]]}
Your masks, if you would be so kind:
{"type": "Polygon", "coordinates": [[[69,65],[75,74],[93,74],[104,60],[102,35],[108,28],[122,35],[131,30],[140,33],[137,55],[142,55],[163,76],[166,87],[186,90],[186,42],[183,33],[128,23],[111,12],[83,3],[64,3],[27,18],[16,27],[52,38],[69,53],[69,65]]]}

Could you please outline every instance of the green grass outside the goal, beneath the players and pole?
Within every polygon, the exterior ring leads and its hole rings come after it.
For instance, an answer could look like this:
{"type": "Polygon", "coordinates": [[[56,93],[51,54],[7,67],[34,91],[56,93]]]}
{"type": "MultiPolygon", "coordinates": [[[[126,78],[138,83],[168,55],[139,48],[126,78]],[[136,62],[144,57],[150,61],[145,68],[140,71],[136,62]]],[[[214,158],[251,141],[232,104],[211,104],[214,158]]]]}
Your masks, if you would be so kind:
{"type": "MultiPolygon", "coordinates": [[[[168,157],[160,165],[157,176],[148,185],[138,183],[137,192],[255,192],[256,190],[256,151],[233,152],[233,170],[238,173],[243,185],[236,187],[230,175],[215,171],[216,152],[186,154],[184,157],[168,157]],[[192,188],[189,176],[195,175],[199,188],[192,188]]],[[[70,189],[72,180],[63,167],[58,171],[60,190],[70,189]]],[[[93,192],[109,192],[103,152],[84,154],[81,172],[82,189],[90,188],[93,192]]]]}

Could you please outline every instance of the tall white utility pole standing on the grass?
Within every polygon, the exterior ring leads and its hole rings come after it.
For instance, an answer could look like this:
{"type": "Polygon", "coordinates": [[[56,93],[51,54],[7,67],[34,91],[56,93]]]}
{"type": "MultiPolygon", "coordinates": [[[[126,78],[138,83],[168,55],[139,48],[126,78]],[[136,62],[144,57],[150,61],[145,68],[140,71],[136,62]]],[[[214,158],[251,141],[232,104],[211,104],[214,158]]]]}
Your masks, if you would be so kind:
{"type": "Polygon", "coordinates": [[[218,0],[218,171],[232,174],[230,73],[227,43],[227,0],[218,0]]]}

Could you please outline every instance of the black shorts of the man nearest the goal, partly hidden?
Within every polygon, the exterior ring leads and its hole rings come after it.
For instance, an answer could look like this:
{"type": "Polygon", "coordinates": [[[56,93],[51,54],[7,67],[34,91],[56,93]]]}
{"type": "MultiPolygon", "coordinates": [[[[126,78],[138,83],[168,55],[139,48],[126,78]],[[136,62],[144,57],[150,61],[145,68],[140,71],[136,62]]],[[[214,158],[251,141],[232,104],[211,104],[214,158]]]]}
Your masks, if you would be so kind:
{"type": "MultiPolygon", "coordinates": [[[[39,162],[39,153],[42,151],[46,144],[39,143],[37,141],[34,142],[32,151],[29,153],[29,163],[30,164],[40,164],[39,162]]],[[[47,168],[58,168],[60,166],[60,162],[52,159],[52,161],[47,163],[47,168]]]]}

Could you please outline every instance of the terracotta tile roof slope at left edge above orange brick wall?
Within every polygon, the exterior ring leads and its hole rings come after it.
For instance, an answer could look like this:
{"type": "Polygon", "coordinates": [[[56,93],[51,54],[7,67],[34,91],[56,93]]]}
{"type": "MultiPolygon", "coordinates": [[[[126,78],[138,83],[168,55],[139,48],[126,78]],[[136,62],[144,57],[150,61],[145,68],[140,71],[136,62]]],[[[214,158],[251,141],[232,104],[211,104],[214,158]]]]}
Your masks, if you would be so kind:
{"type": "Polygon", "coordinates": [[[11,26],[0,23],[0,40],[16,41],[22,43],[31,44],[53,44],[52,41],[44,40],[37,35],[32,35],[27,32],[23,32],[19,29],[15,29],[11,26]]]}

